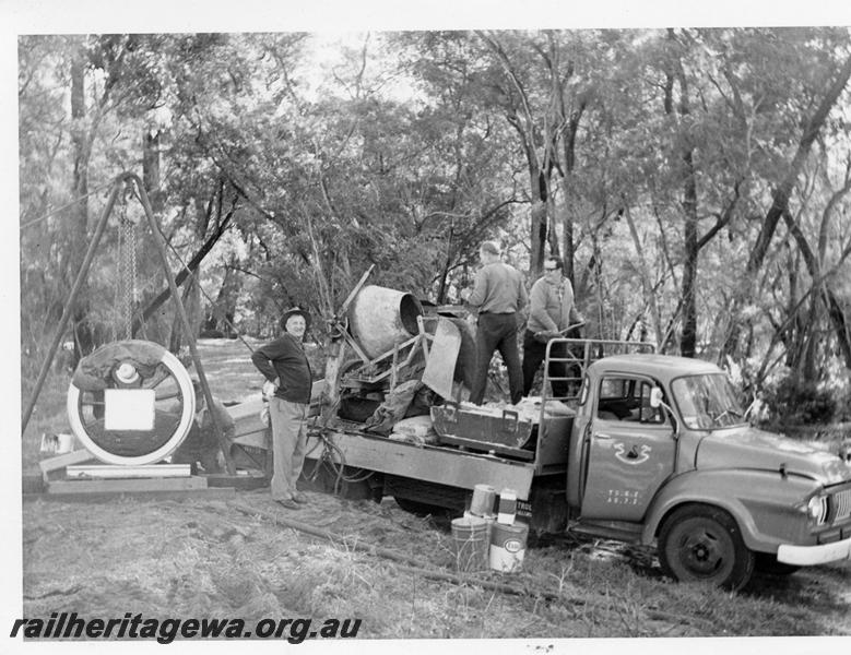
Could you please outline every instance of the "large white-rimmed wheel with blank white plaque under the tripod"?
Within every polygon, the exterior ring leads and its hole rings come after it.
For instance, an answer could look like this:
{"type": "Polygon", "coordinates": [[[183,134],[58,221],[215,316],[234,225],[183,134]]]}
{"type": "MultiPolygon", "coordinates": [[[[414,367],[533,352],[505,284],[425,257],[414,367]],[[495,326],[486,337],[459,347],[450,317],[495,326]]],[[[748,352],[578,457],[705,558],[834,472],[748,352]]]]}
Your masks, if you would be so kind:
{"type": "Polygon", "coordinates": [[[80,361],[67,409],[95,457],[141,466],[170,455],[189,433],[194,391],[184,365],[158,344],[115,342],[80,361]]]}

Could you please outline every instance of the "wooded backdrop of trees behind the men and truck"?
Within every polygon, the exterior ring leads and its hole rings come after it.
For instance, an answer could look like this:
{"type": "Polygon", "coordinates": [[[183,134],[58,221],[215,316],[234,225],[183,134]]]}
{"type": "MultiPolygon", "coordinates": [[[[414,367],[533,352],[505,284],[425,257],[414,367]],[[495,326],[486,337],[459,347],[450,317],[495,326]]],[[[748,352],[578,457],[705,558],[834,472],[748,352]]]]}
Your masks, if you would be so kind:
{"type": "MultiPolygon", "coordinates": [[[[21,37],[24,367],[129,169],[172,269],[198,260],[193,329],[269,335],[299,305],[321,333],[370,266],[373,284],[456,302],[495,238],[530,284],[542,252],[566,257],[591,336],[735,361],[752,394],[782,367],[807,389],[847,379],[850,43],[844,28],[21,37]]],[[[133,198],[123,211],[141,217],[133,198]]],[[[146,238],[138,314],[165,288],[146,238]]],[[[80,352],[115,337],[117,270],[110,221],[63,335],[80,352]]],[[[172,305],[147,313],[139,335],[178,348],[172,305]]]]}

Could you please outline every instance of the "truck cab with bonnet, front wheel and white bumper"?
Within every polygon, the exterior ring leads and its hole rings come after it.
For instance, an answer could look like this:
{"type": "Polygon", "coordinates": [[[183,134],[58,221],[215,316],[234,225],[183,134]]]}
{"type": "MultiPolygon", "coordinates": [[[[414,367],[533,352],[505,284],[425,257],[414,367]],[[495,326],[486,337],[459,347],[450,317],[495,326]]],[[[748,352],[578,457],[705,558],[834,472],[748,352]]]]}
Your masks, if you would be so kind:
{"type": "Polygon", "coordinates": [[[575,529],[655,543],[678,580],[740,588],[755,568],[851,557],[851,466],[753,428],[726,374],[705,361],[591,364],[566,487],[575,529]]]}

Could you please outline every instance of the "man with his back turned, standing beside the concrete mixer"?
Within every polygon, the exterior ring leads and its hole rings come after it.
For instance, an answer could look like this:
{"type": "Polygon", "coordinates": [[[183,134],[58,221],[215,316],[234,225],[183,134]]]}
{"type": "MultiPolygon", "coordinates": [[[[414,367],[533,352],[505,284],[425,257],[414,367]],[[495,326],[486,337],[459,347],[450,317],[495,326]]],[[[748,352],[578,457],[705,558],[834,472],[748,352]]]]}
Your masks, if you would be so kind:
{"type": "Polygon", "coordinates": [[[482,267],[476,272],[472,293],[462,291],[468,305],[478,308],[476,322],[476,367],[470,402],[481,405],[487,384],[487,369],[494,350],[499,350],[508,369],[511,403],[523,396],[523,372],[517,347],[518,311],[528,300],[523,276],[499,259],[499,247],[485,241],[478,249],[482,267]]]}

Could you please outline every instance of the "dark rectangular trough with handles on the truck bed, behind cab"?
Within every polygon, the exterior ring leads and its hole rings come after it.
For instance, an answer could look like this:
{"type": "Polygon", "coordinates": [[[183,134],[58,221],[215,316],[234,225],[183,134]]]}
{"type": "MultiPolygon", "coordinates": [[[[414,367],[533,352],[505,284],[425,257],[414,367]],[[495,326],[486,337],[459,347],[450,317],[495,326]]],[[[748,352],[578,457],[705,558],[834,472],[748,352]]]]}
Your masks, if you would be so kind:
{"type": "Polygon", "coordinates": [[[523,450],[532,439],[532,421],[513,409],[448,403],[432,407],[432,422],[441,443],[534,457],[523,450]]]}

